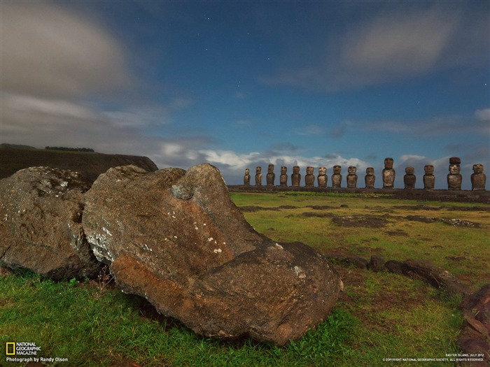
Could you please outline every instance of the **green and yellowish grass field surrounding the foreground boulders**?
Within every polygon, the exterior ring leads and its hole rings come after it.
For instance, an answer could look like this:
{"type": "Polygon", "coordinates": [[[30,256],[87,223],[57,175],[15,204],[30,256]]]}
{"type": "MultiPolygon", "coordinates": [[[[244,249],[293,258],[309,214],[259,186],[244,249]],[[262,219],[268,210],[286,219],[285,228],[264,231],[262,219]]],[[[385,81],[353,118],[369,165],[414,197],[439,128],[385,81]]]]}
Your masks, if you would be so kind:
{"type": "MultiPolygon", "coordinates": [[[[232,199],[257,231],[280,242],[365,259],[428,259],[472,291],[490,282],[489,205],[344,194],[232,199]],[[352,222],[363,226],[346,226],[352,222]]],[[[0,364],[22,366],[5,363],[5,343],[17,341],[41,346],[41,357],[68,359],[49,366],[454,366],[383,359],[458,353],[460,299],[401,275],[335,268],[345,288],[332,315],[285,347],[197,336],[104,280],[52,282],[17,271],[0,280],[0,364]]]]}

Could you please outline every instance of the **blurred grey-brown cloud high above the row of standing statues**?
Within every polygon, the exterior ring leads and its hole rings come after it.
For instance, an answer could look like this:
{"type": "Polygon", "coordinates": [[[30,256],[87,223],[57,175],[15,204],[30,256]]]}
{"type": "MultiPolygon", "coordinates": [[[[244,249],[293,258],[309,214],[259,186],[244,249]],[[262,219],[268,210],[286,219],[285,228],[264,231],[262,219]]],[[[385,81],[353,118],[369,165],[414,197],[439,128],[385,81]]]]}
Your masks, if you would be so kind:
{"type": "MultiPolygon", "coordinates": [[[[315,38],[321,41],[311,41],[309,60],[286,58],[281,71],[264,81],[338,92],[488,64],[486,11],[444,3],[412,3],[401,10],[382,3],[365,17],[364,22],[346,22],[343,29],[332,25],[318,31],[315,38]]],[[[297,47],[289,45],[291,55],[297,47]]]]}

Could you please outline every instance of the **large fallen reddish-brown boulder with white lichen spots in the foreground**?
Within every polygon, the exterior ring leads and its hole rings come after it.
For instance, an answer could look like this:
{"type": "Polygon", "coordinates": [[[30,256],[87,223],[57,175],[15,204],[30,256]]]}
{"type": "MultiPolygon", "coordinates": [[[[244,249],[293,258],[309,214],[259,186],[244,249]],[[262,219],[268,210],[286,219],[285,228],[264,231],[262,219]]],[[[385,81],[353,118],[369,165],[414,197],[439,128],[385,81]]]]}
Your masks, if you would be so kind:
{"type": "Polygon", "coordinates": [[[87,240],[118,287],[204,336],[283,345],[337,301],[342,282],[328,260],[257,233],[209,164],[111,168],[85,203],[87,240]]]}

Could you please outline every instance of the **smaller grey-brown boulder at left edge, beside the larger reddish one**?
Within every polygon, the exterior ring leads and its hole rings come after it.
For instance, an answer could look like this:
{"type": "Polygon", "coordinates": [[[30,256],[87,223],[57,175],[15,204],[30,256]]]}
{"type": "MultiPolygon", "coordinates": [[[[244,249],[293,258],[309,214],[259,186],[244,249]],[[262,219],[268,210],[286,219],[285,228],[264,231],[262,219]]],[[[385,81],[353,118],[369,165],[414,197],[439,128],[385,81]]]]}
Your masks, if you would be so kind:
{"type": "Polygon", "coordinates": [[[99,262],[81,225],[89,187],[76,172],[48,167],[0,180],[0,265],[54,279],[95,275],[99,262]]]}

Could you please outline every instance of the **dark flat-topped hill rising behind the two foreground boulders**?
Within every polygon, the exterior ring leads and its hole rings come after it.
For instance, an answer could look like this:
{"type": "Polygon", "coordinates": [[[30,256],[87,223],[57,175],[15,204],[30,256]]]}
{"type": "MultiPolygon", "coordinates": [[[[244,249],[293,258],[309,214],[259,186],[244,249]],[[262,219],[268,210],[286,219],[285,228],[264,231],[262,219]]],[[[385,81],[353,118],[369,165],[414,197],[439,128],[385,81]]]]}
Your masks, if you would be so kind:
{"type": "Polygon", "coordinates": [[[158,170],[148,157],[135,155],[0,147],[0,178],[6,178],[22,168],[48,166],[80,172],[93,182],[109,168],[128,164],[147,171],[158,170]]]}

